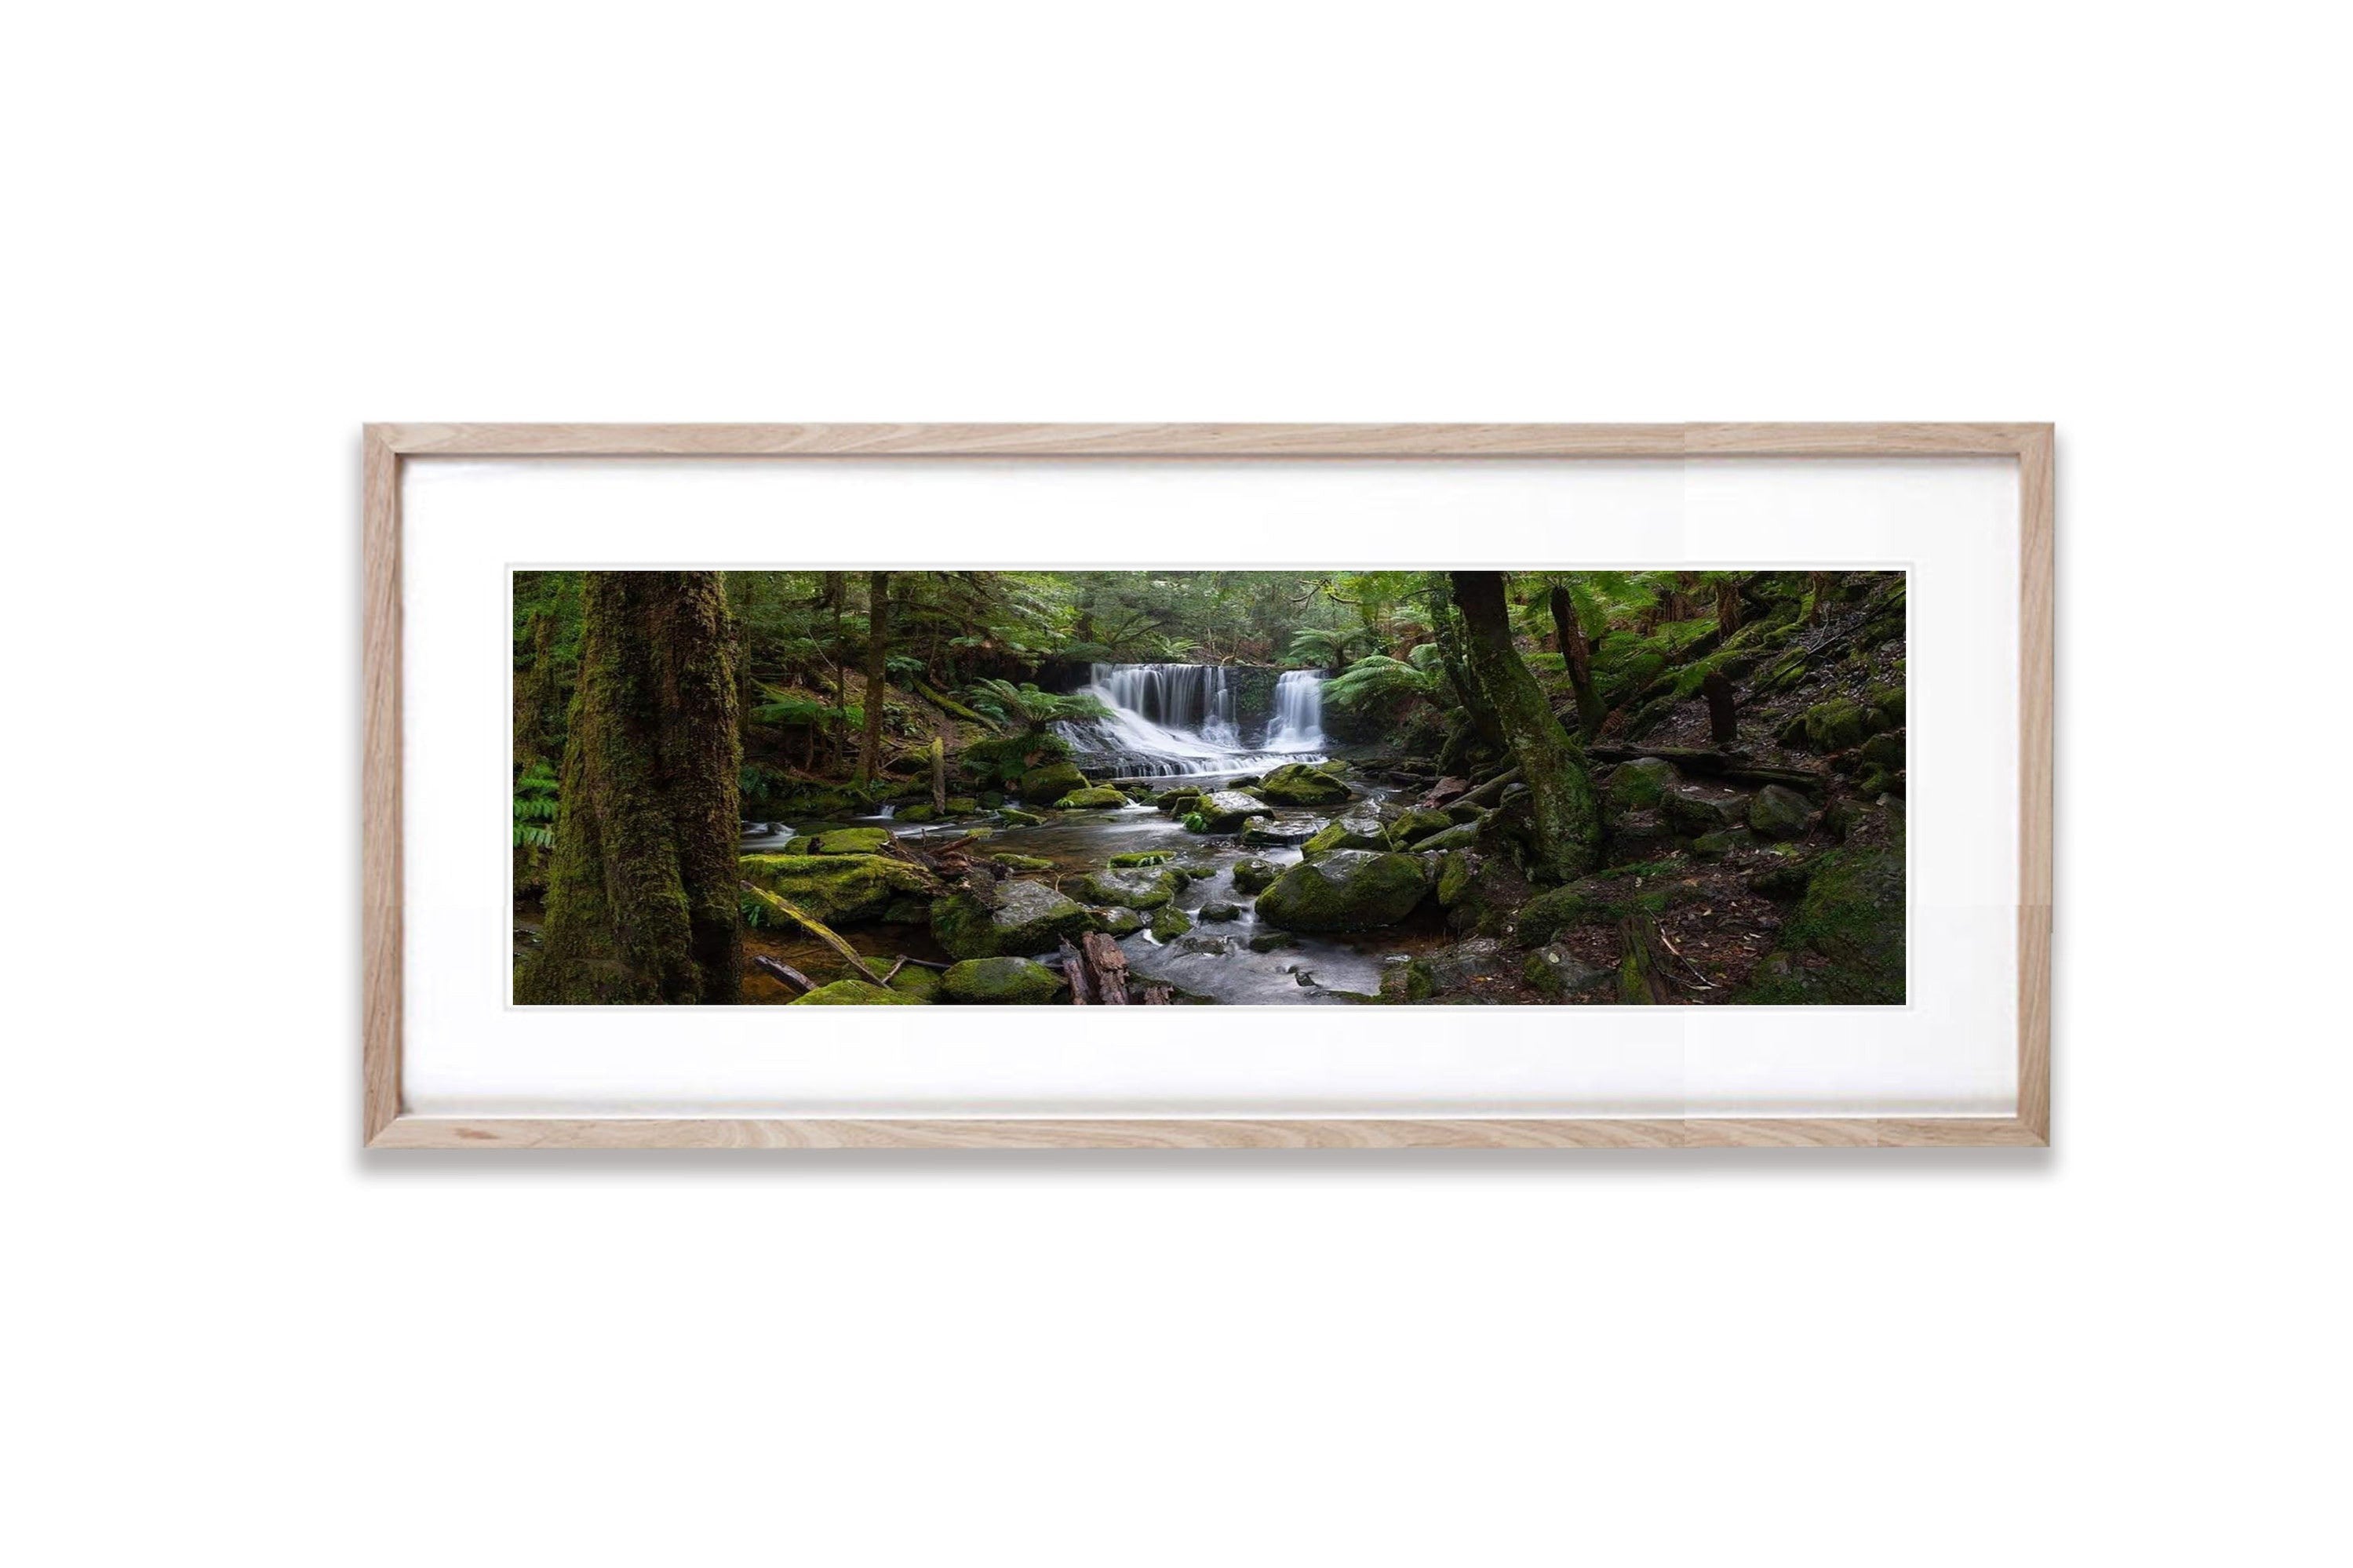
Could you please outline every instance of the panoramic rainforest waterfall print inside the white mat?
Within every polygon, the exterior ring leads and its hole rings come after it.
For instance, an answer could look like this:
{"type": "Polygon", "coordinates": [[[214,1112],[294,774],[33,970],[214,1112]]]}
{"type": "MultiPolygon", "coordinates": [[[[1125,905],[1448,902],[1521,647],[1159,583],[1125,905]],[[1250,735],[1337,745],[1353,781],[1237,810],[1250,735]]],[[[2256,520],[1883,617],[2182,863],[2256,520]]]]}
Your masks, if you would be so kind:
{"type": "Polygon", "coordinates": [[[522,1004],[1899,1004],[1904,576],[518,571],[522,1004]]]}

